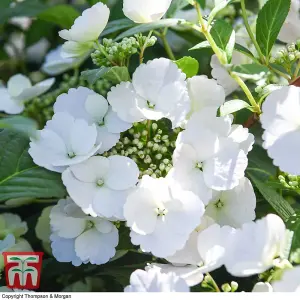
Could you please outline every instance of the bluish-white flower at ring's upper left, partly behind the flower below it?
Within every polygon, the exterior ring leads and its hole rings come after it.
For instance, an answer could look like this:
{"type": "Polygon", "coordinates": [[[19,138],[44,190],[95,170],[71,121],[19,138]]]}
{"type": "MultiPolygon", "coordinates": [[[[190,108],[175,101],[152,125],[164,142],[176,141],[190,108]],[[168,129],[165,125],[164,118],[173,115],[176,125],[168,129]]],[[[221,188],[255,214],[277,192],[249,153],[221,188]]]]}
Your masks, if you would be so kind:
{"type": "Polygon", "coordinates": [[[132,126],[122,121],[109,107],[106,99],[94,91],[79,87],[58,96],[54,112],[65,112],[76,119],[83,119],[97,129],[98,153],[110,150],[120,139],[120,133],[132,126]]]}

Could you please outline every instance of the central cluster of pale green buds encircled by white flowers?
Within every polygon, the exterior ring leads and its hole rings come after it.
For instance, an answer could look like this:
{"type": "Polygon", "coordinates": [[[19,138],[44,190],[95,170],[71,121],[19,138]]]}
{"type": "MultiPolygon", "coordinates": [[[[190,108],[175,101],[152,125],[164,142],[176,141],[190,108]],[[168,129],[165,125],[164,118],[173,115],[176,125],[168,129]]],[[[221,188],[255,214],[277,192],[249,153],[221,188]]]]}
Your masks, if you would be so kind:
{"type": "Polygon", "coordinates": [[[180,129],[171,130],[168,120],[134,123],[120,141],[103,156],[123,155],[133,159],[140,175],[165,177],[172,168],[172,154],[180,129]]]}

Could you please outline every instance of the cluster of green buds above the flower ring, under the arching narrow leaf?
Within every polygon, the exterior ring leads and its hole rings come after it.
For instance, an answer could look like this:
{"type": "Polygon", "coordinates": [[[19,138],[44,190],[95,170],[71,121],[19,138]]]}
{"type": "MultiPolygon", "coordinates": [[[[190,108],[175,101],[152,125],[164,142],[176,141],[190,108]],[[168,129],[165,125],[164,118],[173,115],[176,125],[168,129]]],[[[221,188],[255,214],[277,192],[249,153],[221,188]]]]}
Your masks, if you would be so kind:
{"type": "Polygon", "coordinates": [[[145,51],[157,41],[155,36],[147,37],[136,34],[125,37],[121,42],[103,39],[102,44],[95,44],[95,51],[91,54],[93,63],[101,66],[128,66],[132,55],[145,51]]]}

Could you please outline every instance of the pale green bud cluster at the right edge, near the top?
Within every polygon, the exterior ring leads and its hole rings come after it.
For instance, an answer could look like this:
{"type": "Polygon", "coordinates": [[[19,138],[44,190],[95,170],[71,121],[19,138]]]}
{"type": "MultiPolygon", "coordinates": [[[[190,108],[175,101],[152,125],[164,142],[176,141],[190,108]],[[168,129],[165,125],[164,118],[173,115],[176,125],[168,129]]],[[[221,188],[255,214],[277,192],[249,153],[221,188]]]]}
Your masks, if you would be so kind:
{"type": "Polygon", "coordinates": [[[300,59],[300,40],[296,43],[288,44],[285,48],[280,49],[270,58],[270,63],[281,65],[290,74],[293,65],[300,59]]]}

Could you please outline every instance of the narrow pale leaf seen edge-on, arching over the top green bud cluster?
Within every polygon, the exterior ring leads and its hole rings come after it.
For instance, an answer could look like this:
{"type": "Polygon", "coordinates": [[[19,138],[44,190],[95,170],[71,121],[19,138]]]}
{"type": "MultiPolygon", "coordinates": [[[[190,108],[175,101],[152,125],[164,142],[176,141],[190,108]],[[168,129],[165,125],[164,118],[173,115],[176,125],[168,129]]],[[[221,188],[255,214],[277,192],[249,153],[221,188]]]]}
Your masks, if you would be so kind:
{"type": "Polygon", "coordinates": [[[148,32],[148,31],[155,30],[155,29],[175,26],[178,23],[180,23],[181,21],[182,21],[181,19],[163,19],[163,20],[160,20],[157,22],[137,25],[137,26],[121,33],[120,35],[118,35],[116,37],[115,41],[119,41],[119,40],[123,39],[124,37],[132,36],[139,32],[143,33],[143,32],[148,32]]]}

